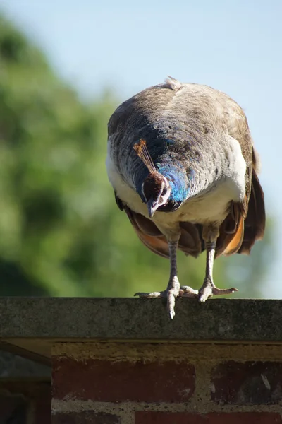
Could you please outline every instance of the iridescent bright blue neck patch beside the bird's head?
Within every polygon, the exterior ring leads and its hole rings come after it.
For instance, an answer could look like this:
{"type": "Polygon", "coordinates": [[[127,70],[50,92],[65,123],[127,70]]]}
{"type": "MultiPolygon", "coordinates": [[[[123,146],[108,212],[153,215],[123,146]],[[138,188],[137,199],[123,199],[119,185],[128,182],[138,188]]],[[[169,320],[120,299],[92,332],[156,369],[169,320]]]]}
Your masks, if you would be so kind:
{"type": "Polygon", "coordinates": [[[175,203],[183,203],[188,199],[191,187],[191,181],[188,179],[185,169],[182,166],[171,163],[157,163],[158,171],[164,175],[171,186],[171,195],[169,200],[175,203]]]}

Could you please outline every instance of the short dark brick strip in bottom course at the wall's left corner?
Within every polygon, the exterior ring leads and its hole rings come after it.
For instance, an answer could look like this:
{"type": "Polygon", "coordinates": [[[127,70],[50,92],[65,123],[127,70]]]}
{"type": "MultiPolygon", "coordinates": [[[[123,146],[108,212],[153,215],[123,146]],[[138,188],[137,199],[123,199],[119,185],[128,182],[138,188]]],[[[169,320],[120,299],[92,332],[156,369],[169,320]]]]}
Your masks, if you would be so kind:
{"type": "Polygon", "coordinates": [[[56,413],[52,416],[52,424],[121,424],[121,420],[111,413],[82,411],[56,413]]]}

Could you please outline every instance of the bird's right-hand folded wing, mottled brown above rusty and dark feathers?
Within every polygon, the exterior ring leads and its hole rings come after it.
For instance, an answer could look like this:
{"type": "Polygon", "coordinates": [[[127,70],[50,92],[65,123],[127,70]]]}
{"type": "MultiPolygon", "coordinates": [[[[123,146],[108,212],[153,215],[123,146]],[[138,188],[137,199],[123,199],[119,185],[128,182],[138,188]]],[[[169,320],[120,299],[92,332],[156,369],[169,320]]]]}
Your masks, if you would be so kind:
{"type": "Polygon", "coordinates": [[[219,93],[219,102],[228,134],[240,143],[246,163],[246,186],[243,202],[231,202],[230,213],[221,225],[216,255],[249,254],[255,241],[262,239],[265,228],[264,193],[257,177],[259,160],[241,107],[224,93],[219,93]]]}

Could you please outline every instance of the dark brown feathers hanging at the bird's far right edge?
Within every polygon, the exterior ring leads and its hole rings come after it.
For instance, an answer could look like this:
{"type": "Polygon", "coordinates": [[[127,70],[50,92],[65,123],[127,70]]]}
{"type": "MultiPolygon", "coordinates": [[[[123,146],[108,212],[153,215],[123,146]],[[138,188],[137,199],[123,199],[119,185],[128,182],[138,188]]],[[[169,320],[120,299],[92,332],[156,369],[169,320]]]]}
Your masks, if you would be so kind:
{"type": "Polygon", "coordinates": [[[262,240],[265,229],[264,192],[259,184],[256,172],[252,171],[252,189],[245,218],[243,242],[238,250],[241,254],[250,254],[256,240],[262,240]]]}

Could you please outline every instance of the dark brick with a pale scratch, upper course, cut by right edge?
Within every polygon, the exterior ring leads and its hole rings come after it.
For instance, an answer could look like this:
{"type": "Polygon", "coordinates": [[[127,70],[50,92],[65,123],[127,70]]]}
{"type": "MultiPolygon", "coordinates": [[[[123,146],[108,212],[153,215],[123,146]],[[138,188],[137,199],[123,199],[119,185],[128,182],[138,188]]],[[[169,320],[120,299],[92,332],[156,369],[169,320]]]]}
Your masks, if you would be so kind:
{"type": "Polygon", "coordinates": [[[223,404],[263,405],[282,401],[282,363],[228,361],[212,372],[212,399],[223,404]]]}

